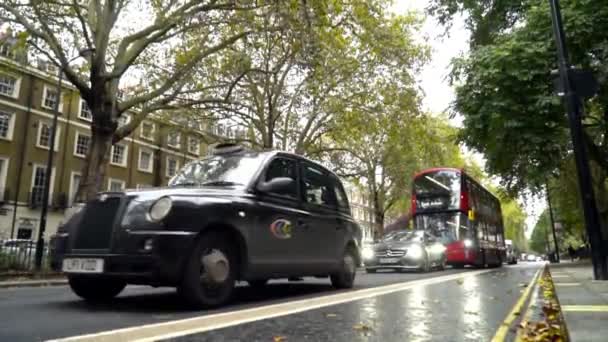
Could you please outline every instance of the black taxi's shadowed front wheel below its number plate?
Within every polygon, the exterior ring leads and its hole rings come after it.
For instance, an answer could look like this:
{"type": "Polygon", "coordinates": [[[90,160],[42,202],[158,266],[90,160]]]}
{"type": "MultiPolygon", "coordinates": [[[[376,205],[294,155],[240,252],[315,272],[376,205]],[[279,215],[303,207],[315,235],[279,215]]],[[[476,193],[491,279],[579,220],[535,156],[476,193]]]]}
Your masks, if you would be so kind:
{"type": "Polygon", "coordinates": [[[103,302],[116,296],[127,286],[118,279],[68,276],[68,283],[74,293],[90,302],[103,302]]]}

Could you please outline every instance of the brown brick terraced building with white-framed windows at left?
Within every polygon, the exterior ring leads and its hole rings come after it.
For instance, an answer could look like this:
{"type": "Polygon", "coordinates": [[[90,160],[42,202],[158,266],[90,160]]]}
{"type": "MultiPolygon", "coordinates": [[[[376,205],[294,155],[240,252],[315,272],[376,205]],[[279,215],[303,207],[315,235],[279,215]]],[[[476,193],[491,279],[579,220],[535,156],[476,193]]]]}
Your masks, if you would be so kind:
{"type": "MultiPolygon", "coordinates": [[[[10,50],[0,50],[0,240],[37,239],[45,177],[51,177],[45,238],[56,232],[64,210],[76,200],[91,141],[92,116],[68,82],[58,96],[56,75],[51,66],[34,67],[16,61],[10,50]],[[60,114],[54,161],[52,171],[47,172],[57,101],[60,114]]],[[[130,115],[123,115],[120,124],[129,120],[130,115]]],[[[203,138],[208,130],[194,126],[171,124],[160,117],[144,121],[112,146],[104,189],[166,185],[185,163],[206,154],[203,138]]],[[[234,135],[223,126],[209,130],[234,135]]]]}

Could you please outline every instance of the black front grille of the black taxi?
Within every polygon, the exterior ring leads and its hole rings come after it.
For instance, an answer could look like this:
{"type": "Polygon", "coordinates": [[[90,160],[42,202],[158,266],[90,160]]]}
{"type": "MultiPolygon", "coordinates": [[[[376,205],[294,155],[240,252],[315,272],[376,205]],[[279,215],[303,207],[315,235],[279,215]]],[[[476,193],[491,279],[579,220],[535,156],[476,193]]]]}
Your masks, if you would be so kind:
{"type": "Polygon", "coordinates": [[[110,247],[112,230],[121,208],[122,197],[112,196],[87,203],[74,241],[74,249],[106,249],[110,247]]]}

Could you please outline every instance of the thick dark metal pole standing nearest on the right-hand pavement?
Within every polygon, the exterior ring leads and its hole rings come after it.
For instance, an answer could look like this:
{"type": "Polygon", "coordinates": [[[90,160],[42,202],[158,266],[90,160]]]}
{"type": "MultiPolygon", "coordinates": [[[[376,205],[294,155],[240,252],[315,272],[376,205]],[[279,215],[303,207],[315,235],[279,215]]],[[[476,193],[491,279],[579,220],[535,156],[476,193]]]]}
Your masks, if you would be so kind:
{"type": "Polygon", "coordinates": [[[568,109],[568,121],[570,122],[570,134],[576,160],[576,171],[578,175],[579,188],[582,198],[583,213],[585,216],[585,228],[591,243],[591,258],[593,261],[593,275],[596,280],[608,280],[608,264],[604,251],[602,250],[602,235],[593,193],[589,159],[585,150],[583,140],[583,127],[581,121],[581,100],[572,87],[570,79],[570,66],[568,64],[568,53],[562,24],[562,15],[559,0],[549,0],[551,5],[551,20],[553,22],[553,34],[557,44],[557,58],[559,65],[559,76],[561,86],[564,90],[566,105],[568,109]]]}

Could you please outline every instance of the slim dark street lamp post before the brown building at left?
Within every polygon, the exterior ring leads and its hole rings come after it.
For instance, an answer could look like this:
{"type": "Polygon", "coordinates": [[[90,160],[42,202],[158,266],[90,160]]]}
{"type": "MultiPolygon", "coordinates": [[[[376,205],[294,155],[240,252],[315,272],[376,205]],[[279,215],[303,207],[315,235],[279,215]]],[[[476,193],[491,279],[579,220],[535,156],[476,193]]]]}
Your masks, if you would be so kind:
{"type": "MultiPolygon", "coordinates": [[[[78,56],[70,59],[66,65],[70,64],[79,57],[85,57],[94,52],[93,49],[86,49],[79,52],[78,56]]],[[[53,157],[55,153],[55,133],[57,132],[57,121],[59,117],[59,104],[61,103],[61,83],[63,82],[63,67],[59,66],[59,80],[57,81],[57,101],[53,106],[53,123],[51,125],[50,141],[49,141],[49,154],[46,160],[46,171],[44,175],[44,187],[42,193],[42,209],[40,210],[40,227],[38,229],[38,241],[36,243],[36,259],[35,267],[37,271],[42,268],[42,256],[44,251],[44,231],[46,230],[46,217],[49,209],[49,197],[51,178],[53,174],[53,157]]]]}

